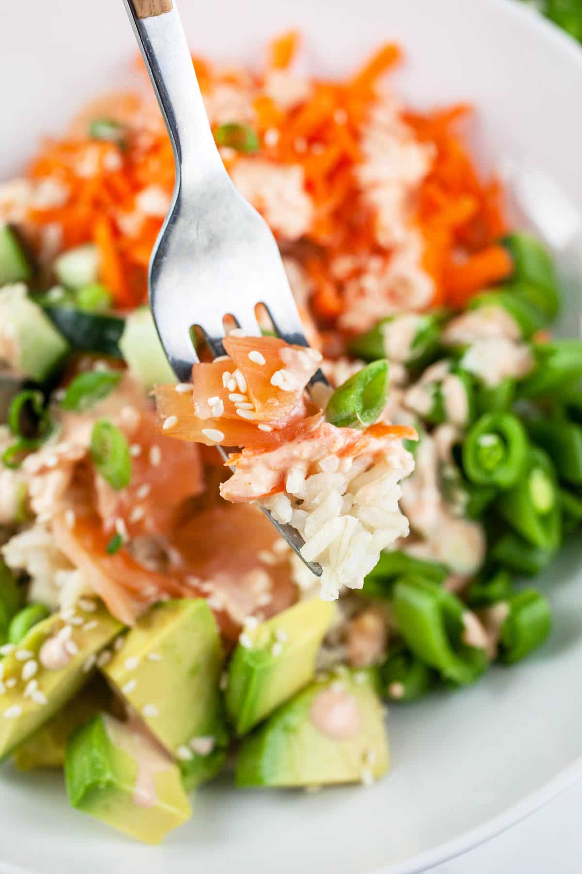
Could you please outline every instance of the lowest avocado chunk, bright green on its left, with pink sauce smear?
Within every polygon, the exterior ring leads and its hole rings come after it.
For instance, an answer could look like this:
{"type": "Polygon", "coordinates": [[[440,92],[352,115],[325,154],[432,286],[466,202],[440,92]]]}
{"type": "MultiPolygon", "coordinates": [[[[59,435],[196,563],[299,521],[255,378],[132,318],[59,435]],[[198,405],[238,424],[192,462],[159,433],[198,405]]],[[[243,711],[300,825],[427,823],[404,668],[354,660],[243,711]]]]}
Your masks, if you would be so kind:
{"type": "Polygon", "coordinates": [[[66,748],[73,808],[143,843],[160,843],[192,814],[180,770],[136,723],[100,714],[66,748]]]}

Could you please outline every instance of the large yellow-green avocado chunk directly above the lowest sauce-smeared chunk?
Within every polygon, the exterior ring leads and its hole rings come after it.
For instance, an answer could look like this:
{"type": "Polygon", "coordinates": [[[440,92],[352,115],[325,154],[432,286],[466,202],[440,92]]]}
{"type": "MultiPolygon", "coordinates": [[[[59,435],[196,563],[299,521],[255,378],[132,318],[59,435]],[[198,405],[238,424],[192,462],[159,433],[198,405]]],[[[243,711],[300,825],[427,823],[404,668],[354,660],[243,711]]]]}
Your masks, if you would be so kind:
{"type": "Polygon", "coordinates": [[[197,739],[226,742],[222,665],[212,611],[205,600],[186,598],[143,616],[103,671],[161,745],[186,760],[197,739]]]}

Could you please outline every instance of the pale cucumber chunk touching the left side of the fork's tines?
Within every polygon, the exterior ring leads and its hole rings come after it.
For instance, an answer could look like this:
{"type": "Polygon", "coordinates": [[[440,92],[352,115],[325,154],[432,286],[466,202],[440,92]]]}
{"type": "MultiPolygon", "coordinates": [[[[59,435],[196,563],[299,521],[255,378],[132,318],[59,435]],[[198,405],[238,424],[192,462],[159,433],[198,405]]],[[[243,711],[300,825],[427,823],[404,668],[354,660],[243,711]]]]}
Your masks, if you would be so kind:
{"type": "Polygon", "coordinates": [[[129,370],[146,390],[154,385],[175,383],[175,373],[168,363],[154,318],[147,307],[134,309],[127,316],[120,350],[129,370]]]}

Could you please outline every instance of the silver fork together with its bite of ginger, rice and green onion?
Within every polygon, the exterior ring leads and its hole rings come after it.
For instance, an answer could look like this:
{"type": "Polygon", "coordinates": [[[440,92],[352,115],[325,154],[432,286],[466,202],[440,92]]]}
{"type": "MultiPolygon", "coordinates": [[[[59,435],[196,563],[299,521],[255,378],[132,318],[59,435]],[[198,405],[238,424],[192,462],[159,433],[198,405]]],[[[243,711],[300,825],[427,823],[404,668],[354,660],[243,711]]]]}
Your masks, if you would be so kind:
{"type": "Polygon", "coordinates": [[[175,156],[149,267],[154,321],[179,380],[156,389],[161,427],[218,447],[234,470],[223,497],[259,504],[335,598],[340,586],[360,587],[381,549],[407,533],[397,482],[412,469],[402,440],[414,429],[377,421],[386,361],[336,392],[327,385],[277,242],[216,148],[175,0],[124,3],[175,156]],[[195,332],[213,360],[199,359],[195,332]]]}

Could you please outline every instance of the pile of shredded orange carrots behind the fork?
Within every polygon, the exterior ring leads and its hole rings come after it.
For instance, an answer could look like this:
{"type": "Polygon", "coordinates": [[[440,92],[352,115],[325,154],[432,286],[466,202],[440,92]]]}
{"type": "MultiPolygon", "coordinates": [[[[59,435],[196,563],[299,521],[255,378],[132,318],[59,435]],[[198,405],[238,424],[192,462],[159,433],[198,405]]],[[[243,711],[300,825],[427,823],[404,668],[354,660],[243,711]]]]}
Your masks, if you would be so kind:
{"type": "MultiPolygon", "coordinates": [[[[301,168],[313,218],[299,245],[291,241],[291,253],[312,281],[315,316],[322,327],[332,327],[346,306],[346,281],[364,269],[356,261],[362,265],[374,256],[387,260],[391,255],[377,241],[374,213],[362,198],[355,171],[363,161],[362,130],[380,80],[400,62],[401,50],[384,45],[348,79],[311,80],[306,99],[281,106],[269,93],[270,74],[292,75],[297,51],[298,34],[289,31],[270,45],[264,74],[221,69],[198,58],[193,63],[204,95],[218,87],[250,87],[251,126],[261,145],[253,154],[225,150],[229,171],[243,159],[301,168]],[[339,276],[333,264],[344,255],[353,257],[354,266],[339,276]]],[[[65,203],[30,212],[32,228],[38,232],[59,225],[63,248],[94,241],[101,278],[120,309],[145,299],[147,264],[161,228],[160,215],[136,212],[136,198],[149,186],[169,198],[174,185],[166,131],[151,108],[144,123],[140,113],[147,102],[137,103],[127,118],[126,148],[91,140],[78,130],[45,142],[29,170],[32,178],[56,179],[68,191],[65,203]]],[[[421,267],[433,280],[430,305],[435,307],[461,307],[483,284],[501,281],[510,272],[507,256],[496,245],[505,231],[503,192],[496,180],[483,181],[462,141],[459,123],[468,114],[469,107],[459,105],[402,117],[417,142],[431,144],[434,155],[415,198],[413,220],[421,232],[421,267]]]]}

